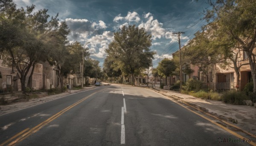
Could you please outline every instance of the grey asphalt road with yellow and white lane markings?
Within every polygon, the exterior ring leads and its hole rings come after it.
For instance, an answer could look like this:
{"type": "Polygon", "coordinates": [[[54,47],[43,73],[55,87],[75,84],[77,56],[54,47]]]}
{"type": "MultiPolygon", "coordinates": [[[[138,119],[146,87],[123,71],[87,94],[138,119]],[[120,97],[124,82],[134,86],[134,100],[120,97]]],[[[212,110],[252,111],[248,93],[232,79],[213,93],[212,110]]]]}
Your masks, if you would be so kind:
{"type": "Polygon", "coordinates": [[[2,115],[0,127],[0,146],[248,145],[172,100],[131,86],[99,86],[2,115]]]}

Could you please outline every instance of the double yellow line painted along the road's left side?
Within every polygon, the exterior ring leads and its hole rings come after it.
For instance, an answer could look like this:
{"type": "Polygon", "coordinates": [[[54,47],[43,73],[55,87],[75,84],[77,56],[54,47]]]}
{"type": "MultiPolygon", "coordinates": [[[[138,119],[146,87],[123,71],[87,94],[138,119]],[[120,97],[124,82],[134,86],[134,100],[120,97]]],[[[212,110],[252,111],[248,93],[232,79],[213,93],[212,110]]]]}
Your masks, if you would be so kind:
{"type": "MultiPolygon", "coordinates": [[[[100,90],[100,91],[102,91],[102,90],[100,90]]],[[[100,92],[100,91],[98,91],[98,92],[100,92]]],[[[93,94],[96,94],[98,92],[94,92],[93,94]]],[[[17,143],[21,142],[22,140],[26,139],[27,137],[29,137],[29,135],[32,135],[33,133],[38,132],[38,130],[42,129],[44,126],[46,126],[52,120],[55,120],[57,117],[61,116],[64,112],[67,112],[69,109],[71,109],[74,106],[78,105],[79,103],[83,102],[87,98],[91,97],[93,94],[90,94],[87,97],[84,97],[83,99],[79,100],[78,102],[72,104],[71,106],[68,106],[67,108],[65,108],[62,111],[58,112],[57,114],[53,115],[49,119],[47,119],[44,122],[38,124],[34,128],[32,128],[32,129],[27,128],[27,129],[23,130],[22,132],[20,132],[20,133],[16,134],[15,136],[9,138],[8,140],[6,140],[4,143],[0,144],[0,146],[4,146],[4,145],[14,146],[15,144],[17,144],[17,143]]]]}

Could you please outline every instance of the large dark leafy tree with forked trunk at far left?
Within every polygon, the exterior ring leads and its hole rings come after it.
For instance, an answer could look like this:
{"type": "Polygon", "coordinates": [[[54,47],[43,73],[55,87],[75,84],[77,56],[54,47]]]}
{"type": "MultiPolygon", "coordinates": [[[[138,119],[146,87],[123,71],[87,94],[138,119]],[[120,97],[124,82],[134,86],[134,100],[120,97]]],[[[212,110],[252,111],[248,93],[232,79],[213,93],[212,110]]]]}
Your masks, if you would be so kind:
{"type": "Polygon", "coordinates": [[[49,19],[46,9],[33,12],[34,5],[16,9],[12,0],[1,0],[0,7],[0,50],[5,52],[5,63],[19,72],[24,91],[26,77],[31,88],[35,65],[52,60],[51,53],[67,43],[69,30],[65,22],[59,23],[58,14],[49,19]]]}

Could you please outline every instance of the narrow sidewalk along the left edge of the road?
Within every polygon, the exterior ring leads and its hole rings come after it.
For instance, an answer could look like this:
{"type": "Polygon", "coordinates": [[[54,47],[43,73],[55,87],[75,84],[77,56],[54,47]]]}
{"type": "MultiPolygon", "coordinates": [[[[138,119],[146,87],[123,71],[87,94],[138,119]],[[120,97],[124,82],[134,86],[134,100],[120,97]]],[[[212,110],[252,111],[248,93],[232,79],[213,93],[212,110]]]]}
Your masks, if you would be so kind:
{"type": "Polygon", "coordinates": [[[66,96],[68,96],[70,94],[73,94],[73,93],[90,90],[90,89],[93,89],[95,87],[96,86],[89,86],[89,87],[84,87],[84,89],[80,89],[80,90],[69,90],[69,89],[67,89],[66,92],[61,93],[61,94],[49,95],[49,96],[45,96],[45,97],[41,97],[41,98],[34,98],[34,99],[29,100],[29,101],[20,101],[20,102],[14,102],[14,103],[11,103],[11,104],[7,104],[7,105],[1,105],[0,106],[0,115],[4,115],[4,114],[14,112],[14,111],[17,111],[17,110],[20,110],[20,109],[24,109],[24,108],[27,108],[27,107],[35,106],[35,105],[45,103],[45,102],[48,102],[48,101],[51,101],[51,100],[55,100],[55,99],[58,99],[58,98],[66,97],[66,96]]]}

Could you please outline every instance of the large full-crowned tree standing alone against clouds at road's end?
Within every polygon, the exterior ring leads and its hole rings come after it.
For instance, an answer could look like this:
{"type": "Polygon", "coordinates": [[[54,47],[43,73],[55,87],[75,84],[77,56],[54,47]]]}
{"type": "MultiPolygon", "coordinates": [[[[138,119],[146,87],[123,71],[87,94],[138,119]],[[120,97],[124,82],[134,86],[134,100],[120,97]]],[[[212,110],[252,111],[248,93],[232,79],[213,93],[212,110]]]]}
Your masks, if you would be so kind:
{"type": "Polygon", "coordinates": [[[121,32],[114,33],[114,40],[109,44],[106,52],[121,71],[131,74],[132,83],[137,70],[147,69],[154,59],[155,52],[150,50],[151,35],[145,29],[134,26],[123,26],[121,32]]]}

